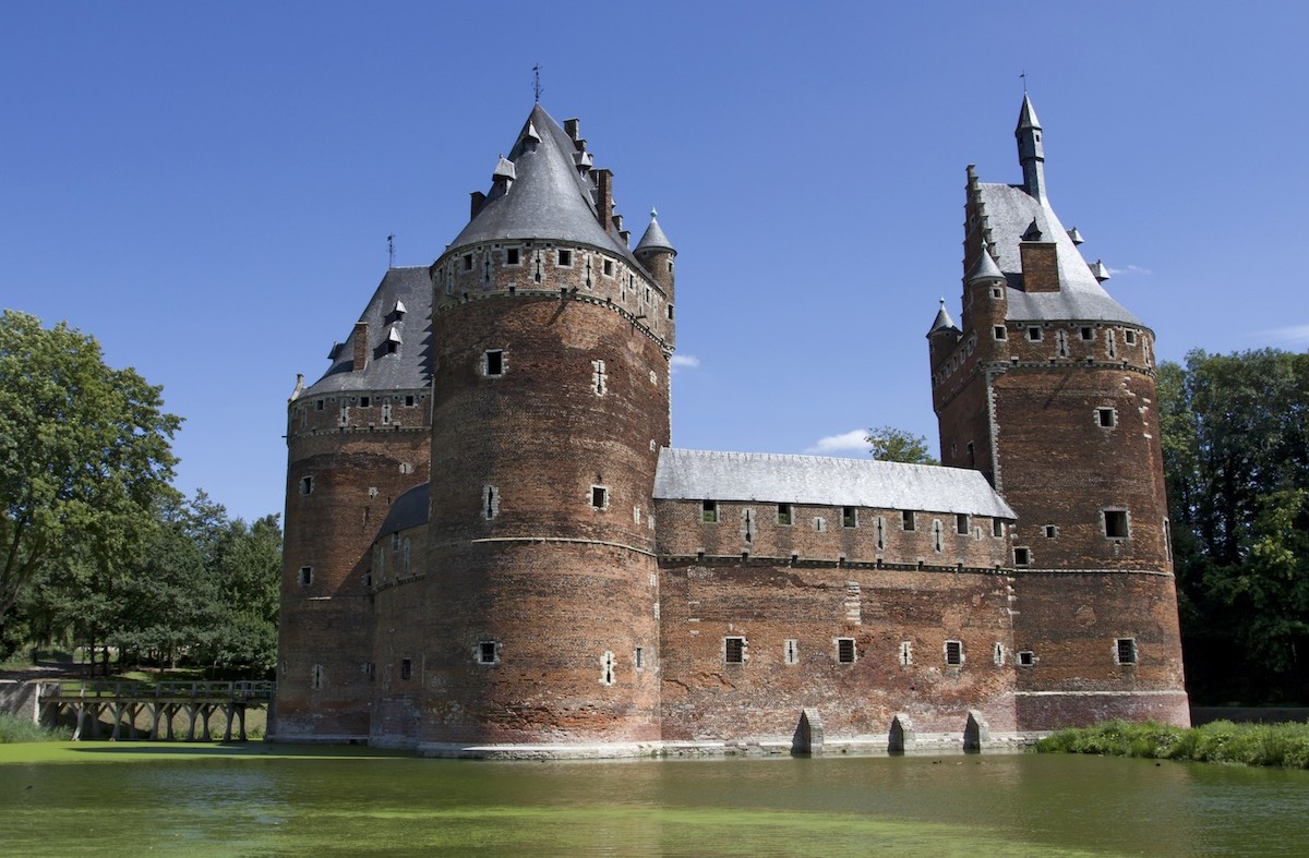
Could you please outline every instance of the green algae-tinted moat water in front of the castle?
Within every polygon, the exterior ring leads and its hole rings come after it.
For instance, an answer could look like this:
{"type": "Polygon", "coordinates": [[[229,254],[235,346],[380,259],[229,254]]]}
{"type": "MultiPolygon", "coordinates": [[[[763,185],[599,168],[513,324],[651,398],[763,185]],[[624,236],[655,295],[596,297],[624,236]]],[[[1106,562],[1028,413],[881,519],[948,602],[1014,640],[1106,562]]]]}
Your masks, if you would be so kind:
{"type": "Polygon", "coordinates": [[[212,751],[86,743],[60,752],[75,761],[5,763],[0,748],[0,853],[1309,854],[1309,772],[1035,755],[475,763],[212,751]]]}

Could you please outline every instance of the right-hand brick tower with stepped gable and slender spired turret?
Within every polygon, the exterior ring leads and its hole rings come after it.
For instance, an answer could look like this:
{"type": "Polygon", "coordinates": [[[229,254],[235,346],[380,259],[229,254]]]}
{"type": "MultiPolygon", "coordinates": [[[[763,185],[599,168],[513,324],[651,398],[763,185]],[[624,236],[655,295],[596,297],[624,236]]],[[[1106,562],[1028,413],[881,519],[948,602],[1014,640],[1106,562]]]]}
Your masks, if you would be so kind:
{"type": "Polygon", "coordinates": [[[1016,133],[1022,184],[969,167],[961,324],[939,314],[928,335],[941,460],[986,473],[1018,515],[1018,729],[1185,725],[1155,334],[1050,208],[1026,95],[1016,133]]]}

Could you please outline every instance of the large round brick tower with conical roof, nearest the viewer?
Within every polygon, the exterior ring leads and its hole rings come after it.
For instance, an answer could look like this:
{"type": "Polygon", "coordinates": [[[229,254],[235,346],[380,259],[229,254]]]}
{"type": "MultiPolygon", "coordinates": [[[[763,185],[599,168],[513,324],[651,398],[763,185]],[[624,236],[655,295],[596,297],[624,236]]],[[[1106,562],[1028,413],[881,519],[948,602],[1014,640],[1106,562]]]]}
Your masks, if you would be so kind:
{"type": "Polygon", "coordinates": [[[628,251],[611,174],[565,127],[531,111],[431,268],[432,753],[660,738],[674,251],[653,254],[664,279],[628,251]]]}

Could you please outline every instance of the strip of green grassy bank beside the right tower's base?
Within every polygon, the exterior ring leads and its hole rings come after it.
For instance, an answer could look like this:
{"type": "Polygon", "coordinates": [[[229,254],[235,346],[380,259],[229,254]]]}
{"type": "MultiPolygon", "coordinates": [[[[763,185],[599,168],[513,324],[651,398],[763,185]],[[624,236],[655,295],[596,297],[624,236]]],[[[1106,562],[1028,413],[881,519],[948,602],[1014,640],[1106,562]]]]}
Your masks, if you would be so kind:
{"type": "Polygon", "coordinates": [[[1060,730],[1038,742],[1037,752],[1309,769],[1309,725],[1215,721],[1183,730],[1151,721],[1106,721],[1094,727],[1060,730]]]}

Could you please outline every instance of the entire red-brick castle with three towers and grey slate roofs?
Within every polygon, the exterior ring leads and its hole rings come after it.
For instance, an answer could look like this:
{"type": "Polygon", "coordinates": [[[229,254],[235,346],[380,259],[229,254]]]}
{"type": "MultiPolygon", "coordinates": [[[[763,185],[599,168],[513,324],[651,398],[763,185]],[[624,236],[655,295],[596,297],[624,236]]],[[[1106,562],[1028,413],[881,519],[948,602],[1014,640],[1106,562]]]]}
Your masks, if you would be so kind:
{"type": "Polygon", "coordinates": [[[670,446],[675,258],[535,106],[288,408],[274,740],[440,756],[982,746],[1189,723],[1153,332],[967,171],[942,466],[670,446]]]}

